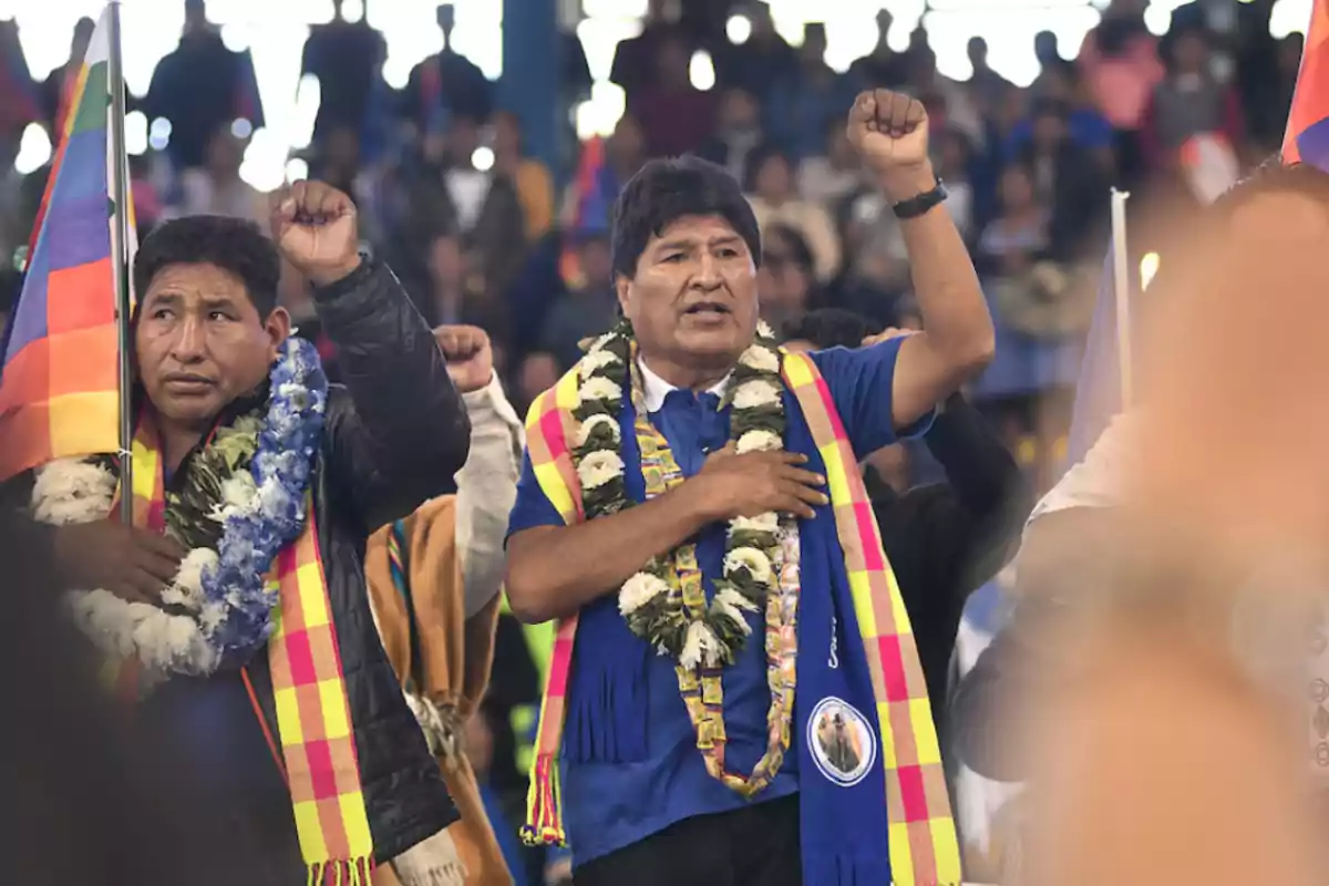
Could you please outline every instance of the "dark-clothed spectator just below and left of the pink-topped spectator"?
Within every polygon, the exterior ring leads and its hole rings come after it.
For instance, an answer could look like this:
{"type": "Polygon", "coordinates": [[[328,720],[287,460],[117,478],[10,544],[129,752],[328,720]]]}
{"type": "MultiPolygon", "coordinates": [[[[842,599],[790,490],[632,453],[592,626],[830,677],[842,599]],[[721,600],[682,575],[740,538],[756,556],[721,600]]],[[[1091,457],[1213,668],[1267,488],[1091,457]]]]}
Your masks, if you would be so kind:
{"type": "MultiPolygon", "coordinates": [[[[1035,203],[1051,213],[1047,248],[1062,260],[1079,258],[1086,236],[1107,206],[1108,193],[1102,166],[1071,139],[1069,118],[1066,105],[1041,100],[1034,108],[1030,139],[1017,155],[1033,177],[1035,203]]],[[[1005,203],[1005,185],[1002,193],[1005,203]]]]}

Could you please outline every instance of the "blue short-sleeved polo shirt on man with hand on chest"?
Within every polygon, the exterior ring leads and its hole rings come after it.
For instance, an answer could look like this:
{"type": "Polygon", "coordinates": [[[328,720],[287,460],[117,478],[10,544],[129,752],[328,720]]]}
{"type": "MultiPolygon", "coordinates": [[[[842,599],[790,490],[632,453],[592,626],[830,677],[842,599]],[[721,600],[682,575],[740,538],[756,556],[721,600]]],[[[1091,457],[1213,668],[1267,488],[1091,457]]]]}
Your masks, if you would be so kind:
{"type": "MultiPolygon", "coordinates": [[[[855,453],[861,458],[897,441],[890,418],[890,391],[901,339],[870,348],[832,348],[812,355],[835,400],[855,453]]],[[[706,461],[706,453],[724,446],[730,434],[730,410],[719,409],[722,391],[702,395],[680,391],[643,369],[646,406],[651,421],[664,436],[686,477],[692,477],[706,461]]],[[[812,442],[812,433],[797,401],[784,393],[787,417],[785,446],[811,458],[809,469],[824,466],[812,442]]],[[[634,413],[625,402],[619,416],[623,438],[633,438],[634,413]]],[[[922,433],[930,420],[910,428],[922,433]]],[[[633,450],[635,452],[635,449],[633,450]]],[[[633,501],[645,497],[639,465],[629,461],[625,482],[633,501]]],[[[541,490],[525,458],[517,482],[517,501],[508,534],[534,526],[562,526],[558,510],[541,490]]],[[[817,518],[800,521],[803,592],[828,592],[828,582],[848,582],[844,559],[829,507],[817,509],[817,518]]],[[[724,523],[707,526],[696,538],[696,559],[702,567],[707,596],[712,580],[723,575],[724,523]]],[[[593,606],[613,606],[611,599],[593,606]]],[[[726,768],[747,774],[766,752],[766,715],[771,704],[766,673],[766,650],[760,642],[762,614],[747,614],[755,640],[744,644],[735,664],[724,671],[724,727],[728,735],[726,768]]],[[[799,630],[801,632],[803,623],[799,630]]],[[[831,630],[829,626],[824,626],[831,630]]],[[[573,665],[575,667],[575,659],[573,665]]],[[[797,753],[784,756],[784,765],[771,785],[754,801],[743,800],[706,772],[696,749],[696,735],[678,693],[674,660],[650,656],[647,676],[647,725],[645,758],[627,764],[562,761],[562,805],[567,841],[574,865],[583,865],[670,825],[694,816],[730,812],[750,802],[787,797],[797,792],[797,753]]],[[[796,732],[796,731],[795,731],[796,732]]],[[[797,741],[797,736],[793,737],[797,741]]]]}

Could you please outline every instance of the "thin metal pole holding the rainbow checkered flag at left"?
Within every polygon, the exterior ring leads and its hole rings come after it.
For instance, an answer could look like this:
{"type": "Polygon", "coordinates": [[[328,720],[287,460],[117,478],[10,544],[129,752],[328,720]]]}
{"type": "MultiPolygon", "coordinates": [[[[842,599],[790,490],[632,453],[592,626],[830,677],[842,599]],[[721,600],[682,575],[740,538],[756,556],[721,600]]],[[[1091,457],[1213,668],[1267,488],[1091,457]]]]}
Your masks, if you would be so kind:
{"type": "Polygon", "coordinates": [[[129,291],[129,155],[125,153],[125,69],[120,49],[120,0],[109,0],[106,86],[110,89],[110,125],[106,137],[110,154],[110,198],[114,211],[110,224],[110,258],[114,267],[116,333],[120,343],[120,519],[134,522],[134,442],[132,351],[129,321],[133,304],[129,291]]]}

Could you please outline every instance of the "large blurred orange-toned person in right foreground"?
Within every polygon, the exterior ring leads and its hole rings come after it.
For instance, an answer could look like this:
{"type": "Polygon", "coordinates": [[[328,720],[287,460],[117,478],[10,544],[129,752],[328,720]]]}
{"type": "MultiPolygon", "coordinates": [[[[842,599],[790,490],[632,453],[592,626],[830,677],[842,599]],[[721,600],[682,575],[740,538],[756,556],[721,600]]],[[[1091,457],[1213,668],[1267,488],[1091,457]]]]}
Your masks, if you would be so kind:
{"type": "Polygon", "coordinates": [[[1021,642],[985,651],[953,712],[966,761],[1035,790],[1022,882],[1322,870],[1329,175],[1275,165],[1205,223],[1151,299],[1140,401],[1035,510],[1021,642]]]}

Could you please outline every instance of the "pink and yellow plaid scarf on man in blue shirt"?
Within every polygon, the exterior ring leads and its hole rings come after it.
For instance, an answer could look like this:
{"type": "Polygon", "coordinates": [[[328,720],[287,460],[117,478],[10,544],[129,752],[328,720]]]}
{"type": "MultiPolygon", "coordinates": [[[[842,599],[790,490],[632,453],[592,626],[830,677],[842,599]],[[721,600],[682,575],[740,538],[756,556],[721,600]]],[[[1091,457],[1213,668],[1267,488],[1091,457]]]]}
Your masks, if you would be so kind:
{"type": "MultiPolygon", "coordinates": [[[[960,843],[941,765],[928,688],[918,663],[909,615],[881,546],[881,533],[859,472],[859,462],[811,357],[783,355],[784,383],[803,410],[825,462],[836,534],[844,553],[855,616],[872,671],[885,768],[892,878],[898,886],[958,883],[960,843]]],[[[536,480],[563,521],[585,519],[581,484],[573,466],[578,371],[573,368],[541,395],[526,417],[536,480]]],[[[526,804],[528,842],[562,843],[558,756],[577,616],[558,624],[549,677],[540,705],[536,756],[526,804]]]]}

